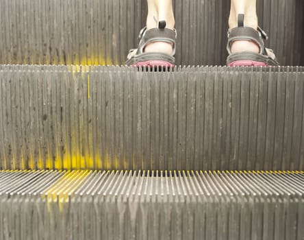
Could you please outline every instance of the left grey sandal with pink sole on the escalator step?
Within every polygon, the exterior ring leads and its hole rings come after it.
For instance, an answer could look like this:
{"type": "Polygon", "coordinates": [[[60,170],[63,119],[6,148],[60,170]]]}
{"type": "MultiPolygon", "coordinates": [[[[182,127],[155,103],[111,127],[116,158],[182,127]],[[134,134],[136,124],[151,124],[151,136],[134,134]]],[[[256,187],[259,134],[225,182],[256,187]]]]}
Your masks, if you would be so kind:
{"type": "Polygon", "coordinates": [[[144,27],[140,31],[140,43],[138,49],[131,49],[127,56],[125,64],[133,67],[174,67],[175,66],[175,39],[177,32],[175,29],[166,28],[166,21],[160,21],[158,27],[147,30],[144,27]],[[164,42],[173,46],[173,55],[166,53],[149,52],[144,53],[144,48],[149,43],[164,42]]]}

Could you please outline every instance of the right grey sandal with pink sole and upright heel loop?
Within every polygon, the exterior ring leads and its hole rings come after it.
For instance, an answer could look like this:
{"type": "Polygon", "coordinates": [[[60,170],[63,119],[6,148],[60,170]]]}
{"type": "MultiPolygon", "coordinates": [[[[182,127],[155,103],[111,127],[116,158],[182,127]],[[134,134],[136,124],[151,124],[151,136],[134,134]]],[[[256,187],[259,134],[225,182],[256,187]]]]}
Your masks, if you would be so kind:
{"type": "Polygon", "coordinates": [[[258,27],[255,30],[252,27],[244,27],[244,14],[238,14],[238,27],[231,29],[228,32],[227,51],[227,66],[278,66],[277,58],[272,58],[268,55],[273,50],[264,47],[264,39],[268,39],[267,34],[258,27]],[[259,53],[243,51],[240,53],[231,53],[231,44],[236,40],[249,40],[259,46],[259,53]]]}

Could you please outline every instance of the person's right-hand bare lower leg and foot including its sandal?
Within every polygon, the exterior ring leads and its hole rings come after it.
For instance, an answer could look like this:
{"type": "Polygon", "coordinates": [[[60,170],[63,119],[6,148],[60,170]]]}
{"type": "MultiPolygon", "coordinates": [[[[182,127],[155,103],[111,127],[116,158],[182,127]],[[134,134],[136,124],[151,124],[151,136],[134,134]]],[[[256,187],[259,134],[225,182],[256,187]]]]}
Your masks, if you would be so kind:
{"type": "Polygon", "coordinates": [[[264,47],[266,34],[257,25],[256,0],[231,0],[227,64],[268,66],[279,64],[271,49],[264,47]],[[240,25],[238,24],[240,16],[240,25]]]}

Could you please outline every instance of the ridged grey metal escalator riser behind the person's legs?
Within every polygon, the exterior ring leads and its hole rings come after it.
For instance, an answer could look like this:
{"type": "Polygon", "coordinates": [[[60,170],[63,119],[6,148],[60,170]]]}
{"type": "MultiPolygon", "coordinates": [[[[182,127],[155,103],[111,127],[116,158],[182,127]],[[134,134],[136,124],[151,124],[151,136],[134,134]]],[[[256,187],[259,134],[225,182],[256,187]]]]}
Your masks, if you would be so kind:
{"type": "MultiPolygon", "coordinates": [[[[173,3],[177,64],[225,64],[229,1],[173,3]]],[[[304,65],[304,2],[257,5],[281,64],[304,65]]],[[[124,64],[146,17],[146,0],[1,0],[0,64],[124,64]]]]}

